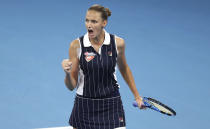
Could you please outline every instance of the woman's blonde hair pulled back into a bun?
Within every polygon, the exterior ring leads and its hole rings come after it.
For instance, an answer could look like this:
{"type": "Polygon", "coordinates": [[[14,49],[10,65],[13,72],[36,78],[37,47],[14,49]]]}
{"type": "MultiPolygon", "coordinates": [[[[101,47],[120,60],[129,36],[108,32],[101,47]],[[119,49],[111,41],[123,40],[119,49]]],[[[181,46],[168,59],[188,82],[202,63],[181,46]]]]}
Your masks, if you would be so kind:
{"type": "Polygon", "coordinates": [[[89,10],[94,10],[94,11],[97,11],[97,12],[101,12],[101,18],[103,20],[107,20],[109,16],[111,16],[112,12],[109,10],[109,8],[105,8],[101,5],[98,5],[98,4],[94,4],[92,5],[89,9],[89,10]]]}

